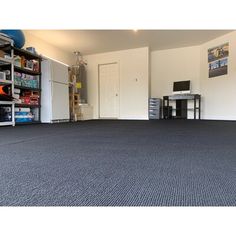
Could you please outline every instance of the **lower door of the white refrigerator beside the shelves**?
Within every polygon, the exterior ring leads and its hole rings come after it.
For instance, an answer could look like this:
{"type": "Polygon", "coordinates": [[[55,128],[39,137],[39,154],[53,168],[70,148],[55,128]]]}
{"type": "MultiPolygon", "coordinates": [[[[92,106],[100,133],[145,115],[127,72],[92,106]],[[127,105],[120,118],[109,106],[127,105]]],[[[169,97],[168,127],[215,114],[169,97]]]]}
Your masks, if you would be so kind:
{"type": "Polygon", "coordinates": [[[52,120],[69,120],[69,89],[61,83],[52,82],[52,120]]]}

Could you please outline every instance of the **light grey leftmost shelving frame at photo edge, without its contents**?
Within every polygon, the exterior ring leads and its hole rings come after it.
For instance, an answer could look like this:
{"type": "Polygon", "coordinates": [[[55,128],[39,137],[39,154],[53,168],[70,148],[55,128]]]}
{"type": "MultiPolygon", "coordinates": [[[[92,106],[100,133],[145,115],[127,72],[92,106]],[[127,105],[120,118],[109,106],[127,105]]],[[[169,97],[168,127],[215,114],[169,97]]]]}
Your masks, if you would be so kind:
{"type": "MultiPolygon", "coordinates": [[[[10,85],[11,93],[14,93],[14,64],[13,64],[13,40],[3,35],[0,35],[0,50],[4,53],[8,54],[8,57],[0,56],[0,69],[1,70],[9,70],[10,71],[10,79],[0,79],[0,85],[10,85]]],[[[5,125],[15,125],[15,106],[14,101],[5,101],[3,98],[0,98],[0,107],[11,108],[11,119],[10,120],[2,120],[5,119],[0,117],[0,126],[5,125]],[[1,100],[2,99],[2,100],[1,100]]]]}

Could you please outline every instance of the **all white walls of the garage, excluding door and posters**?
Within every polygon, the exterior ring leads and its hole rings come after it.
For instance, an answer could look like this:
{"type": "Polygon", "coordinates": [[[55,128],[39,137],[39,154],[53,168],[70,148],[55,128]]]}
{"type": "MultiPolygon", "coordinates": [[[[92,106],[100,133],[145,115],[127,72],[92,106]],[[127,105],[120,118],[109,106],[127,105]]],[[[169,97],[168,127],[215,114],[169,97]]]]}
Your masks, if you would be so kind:
{"type": "MultiPolygon", "coordinates": [[[[27,31],[24,33],[25,47],[33,46],[40,54],[74,64],[73,53],[64,52],[27,31]]],[[[173,81],[191,80],[192,93],[202,95],[202,119],[236,120],[235,41],[236,32],[232,32],[199,46],[153,51],[150,55],[145,47],[85,57],[88,61],[88,101],[94,107],[94,118],[98,118],[98,65],[118,62],[120,119],[147,119],[148,90],[151,97],[162,98],[172,93],[173,81]],[[228,75],[208,78],[207,50],[225,42],[229,42],[228,75]]]]}

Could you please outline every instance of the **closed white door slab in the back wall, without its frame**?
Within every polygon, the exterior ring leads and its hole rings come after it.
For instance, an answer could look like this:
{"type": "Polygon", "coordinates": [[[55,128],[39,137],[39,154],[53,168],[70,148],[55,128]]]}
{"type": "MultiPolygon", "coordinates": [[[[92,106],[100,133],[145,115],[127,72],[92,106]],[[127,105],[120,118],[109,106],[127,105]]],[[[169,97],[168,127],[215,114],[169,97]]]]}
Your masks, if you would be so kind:
{"type": "Polygon", "coordinates": [[[119,66],[118,63],[99,65],[100,118],[119,117],[119,66]]]}

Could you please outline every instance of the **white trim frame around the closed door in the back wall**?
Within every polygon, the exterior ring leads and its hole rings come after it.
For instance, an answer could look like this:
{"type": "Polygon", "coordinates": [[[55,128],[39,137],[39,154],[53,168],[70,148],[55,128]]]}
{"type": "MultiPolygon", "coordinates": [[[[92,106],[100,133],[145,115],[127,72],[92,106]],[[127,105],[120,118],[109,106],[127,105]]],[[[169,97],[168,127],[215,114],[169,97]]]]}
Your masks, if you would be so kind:
{"type": "Polygon", "coordinates": [[[102,119],[102,120],[106,120],[106,119],[119,119],[120,118],[120,63],[119,61],[113,61],[113,62],[107,62],[107,63],[99,63],[98,64],[98,118],[102,119]],[[118,99],[117,99],[117,117],[111,117],[111,118],[104,118],[101,117],[101,113],[100,113],[100,66],[104,66],[104,65],[112,65],[112,64],[117,64],[118,66],[118,99]]]}

